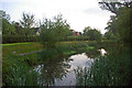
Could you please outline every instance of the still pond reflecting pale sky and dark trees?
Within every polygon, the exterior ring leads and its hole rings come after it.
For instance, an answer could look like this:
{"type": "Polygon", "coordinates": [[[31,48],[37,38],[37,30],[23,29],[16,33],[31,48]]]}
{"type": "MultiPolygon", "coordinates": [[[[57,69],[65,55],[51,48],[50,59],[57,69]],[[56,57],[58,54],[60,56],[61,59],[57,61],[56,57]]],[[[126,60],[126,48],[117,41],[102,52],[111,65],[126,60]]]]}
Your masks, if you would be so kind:
{"type": "Polygon", "coordinates": [[[38,73],[37,82],[43,86],[76,86],[75,69],[90,68],[94,59],[107,53],[103,48],[86,53],[45,59],[33,70],[38,73]],[[100,53],[99,53],[100,52],[100,53]]]}

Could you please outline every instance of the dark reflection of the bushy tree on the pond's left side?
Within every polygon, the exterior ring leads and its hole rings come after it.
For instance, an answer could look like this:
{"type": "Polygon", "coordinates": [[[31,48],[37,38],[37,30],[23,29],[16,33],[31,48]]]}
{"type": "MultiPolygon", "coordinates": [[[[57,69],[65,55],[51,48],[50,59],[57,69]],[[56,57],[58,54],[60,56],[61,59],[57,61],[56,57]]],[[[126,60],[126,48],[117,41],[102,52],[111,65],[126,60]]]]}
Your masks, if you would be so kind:
{"type": "Polygon", "coordinates": [[[41,66],[38,82],[43,86],[55,84],[55,79],[62,79],[66,76],[67,69],[70,68],[67,57],[45,59],[41,66]]]}

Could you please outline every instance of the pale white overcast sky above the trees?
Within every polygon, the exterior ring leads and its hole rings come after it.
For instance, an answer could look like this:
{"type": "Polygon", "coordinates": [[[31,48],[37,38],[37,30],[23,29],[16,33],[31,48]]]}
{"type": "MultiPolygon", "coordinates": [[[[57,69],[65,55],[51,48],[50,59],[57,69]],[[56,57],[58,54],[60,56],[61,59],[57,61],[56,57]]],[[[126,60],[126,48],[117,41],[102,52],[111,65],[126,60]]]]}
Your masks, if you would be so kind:
{"type": "Polygon", "coordinates": [[[62,13],[70,28],[78,32],[91,26],[105,33],[112,14],[101,10],[98,0],[0,0],[0,9],[10,14],[11,21],[19,21],[22,12],[35,14],[36,20],[62,13]]]}

